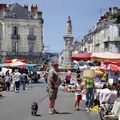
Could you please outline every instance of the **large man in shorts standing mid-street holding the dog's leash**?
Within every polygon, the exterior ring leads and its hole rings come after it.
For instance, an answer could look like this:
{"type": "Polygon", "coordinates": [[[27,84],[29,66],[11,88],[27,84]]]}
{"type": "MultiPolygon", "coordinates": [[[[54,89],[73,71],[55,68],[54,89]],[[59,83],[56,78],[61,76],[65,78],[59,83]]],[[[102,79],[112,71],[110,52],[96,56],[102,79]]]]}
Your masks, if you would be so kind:
{"type": "Polygon", "coordinates": [[[57,81],[58,77],[58,64],[52,63],[51,68],[48,73],[48,95],[49,95],[49,114],[57,114],[58,112],[55,110],[55,101],[57,98],[58,87],[57,81]]]}

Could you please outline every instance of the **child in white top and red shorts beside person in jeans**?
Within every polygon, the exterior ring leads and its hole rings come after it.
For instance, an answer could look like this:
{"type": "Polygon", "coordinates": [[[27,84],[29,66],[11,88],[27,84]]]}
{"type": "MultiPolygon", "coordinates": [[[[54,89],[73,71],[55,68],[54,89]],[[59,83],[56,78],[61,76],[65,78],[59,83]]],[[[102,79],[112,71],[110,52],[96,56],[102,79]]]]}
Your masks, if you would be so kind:
{"type": "Polygon", "coordinates": [[[76,83],[76,89],[75,89],[75,104],[74,104],[74,111],[79,111],[79,105],[80,100],[82,99],[81,90],[82,90],[82,79],[80,77],[80,74],[77,75],[77,83],[76,83]]]}

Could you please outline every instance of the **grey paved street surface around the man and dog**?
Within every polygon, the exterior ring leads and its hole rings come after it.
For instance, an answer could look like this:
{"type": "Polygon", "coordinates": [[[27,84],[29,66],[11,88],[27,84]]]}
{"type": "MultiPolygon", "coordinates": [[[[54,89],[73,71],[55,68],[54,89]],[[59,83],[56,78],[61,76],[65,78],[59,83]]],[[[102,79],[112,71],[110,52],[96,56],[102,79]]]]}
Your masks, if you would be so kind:
{"type": "Polygon", "coordinates": [[[74,93],[59,90],[56,109],[60,114],[48,114],[48,97],[45,83],[34,84],[31,88],[20,93],[3,92],[4,99],[0,100],[0,120],[100,120],[95,112],[87,113],[84,103],[81,111],[73,111],[74,93]],[[31,116],[31,103],[39,104],[37,116],[31,116]]]}

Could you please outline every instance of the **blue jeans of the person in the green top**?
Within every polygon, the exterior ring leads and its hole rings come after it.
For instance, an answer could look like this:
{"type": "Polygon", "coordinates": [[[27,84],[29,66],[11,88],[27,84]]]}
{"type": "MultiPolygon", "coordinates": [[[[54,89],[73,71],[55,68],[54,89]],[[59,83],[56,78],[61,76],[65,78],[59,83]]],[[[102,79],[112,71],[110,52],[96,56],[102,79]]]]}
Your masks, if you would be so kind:
{"type": "Polygon", "coordinates": [[[93,90],[93,88],[87,88],[86,99],[87,99],[86,107],[93,106],[93,102],[94,102],[94,90],[93,90]]]}

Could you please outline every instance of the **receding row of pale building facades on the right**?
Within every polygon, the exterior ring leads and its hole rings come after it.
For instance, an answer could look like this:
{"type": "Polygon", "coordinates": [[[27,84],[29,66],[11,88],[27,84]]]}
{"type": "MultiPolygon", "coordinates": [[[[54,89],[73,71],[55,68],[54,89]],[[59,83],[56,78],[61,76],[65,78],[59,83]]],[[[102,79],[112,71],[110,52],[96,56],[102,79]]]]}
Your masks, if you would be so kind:
{"type": "Polygon", "coordinates": [[[83,52],[120,53],[120,9],[109,8],[81,42],[83,52]]]}

